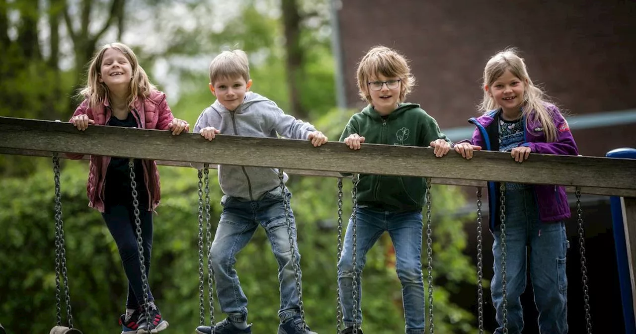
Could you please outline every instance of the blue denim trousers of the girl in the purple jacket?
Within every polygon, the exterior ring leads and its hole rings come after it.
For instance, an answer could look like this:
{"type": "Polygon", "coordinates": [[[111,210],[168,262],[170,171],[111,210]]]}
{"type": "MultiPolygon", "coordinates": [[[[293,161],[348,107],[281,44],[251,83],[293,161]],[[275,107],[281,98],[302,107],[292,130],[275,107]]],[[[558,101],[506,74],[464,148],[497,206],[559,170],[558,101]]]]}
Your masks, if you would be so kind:
{"type": "MultiPolygon", "coordinates": [[[[499,334],[503,332],[500,226],[494,232],[494,239],[492,252],[495,275],[491,290],[499,323],[495,333],[499,334]]],[[[534,190],[531,187],[506,191],[506,299],[509,334],[523,331],[520,296],[526,287],[527,265],[530,265],[534,302],[539,311],[539,331],[550,334],[567,333],[565,253],[568,247],[565,224],[562,221],[542,223],[539,220],[534,190]]]]}

